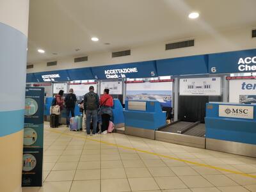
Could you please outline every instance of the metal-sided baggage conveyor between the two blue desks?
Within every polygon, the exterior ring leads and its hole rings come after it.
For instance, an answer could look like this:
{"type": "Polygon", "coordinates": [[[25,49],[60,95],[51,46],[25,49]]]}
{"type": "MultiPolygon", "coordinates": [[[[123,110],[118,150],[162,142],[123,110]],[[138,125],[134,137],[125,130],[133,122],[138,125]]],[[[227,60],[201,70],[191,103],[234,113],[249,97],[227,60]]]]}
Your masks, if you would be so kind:
{"type": "Polygon", "coordinates": [[[156,140],[205,148],[204,134],[205,126],[200,122],[177,121],[160,127],[156,131],[156,140]]]}

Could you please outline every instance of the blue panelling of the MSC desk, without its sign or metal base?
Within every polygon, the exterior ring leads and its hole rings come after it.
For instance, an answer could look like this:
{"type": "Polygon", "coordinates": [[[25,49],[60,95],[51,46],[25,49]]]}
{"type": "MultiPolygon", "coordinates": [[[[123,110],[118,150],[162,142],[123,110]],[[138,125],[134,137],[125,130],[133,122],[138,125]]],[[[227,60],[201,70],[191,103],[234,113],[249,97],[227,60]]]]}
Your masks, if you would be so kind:
{"type": "MultiPolygon", "coordinates": [[[[256,145],[256,106],[253,109],[253,119],[244,119],[219,116],[219,105],[221,103],[208,103],[206,105],[205,138],[256,145]]],[[[223,105],[228,104],[223,103],[223,105]]],[[[229,105],[234,106],[236,104],[229,105]]]]}

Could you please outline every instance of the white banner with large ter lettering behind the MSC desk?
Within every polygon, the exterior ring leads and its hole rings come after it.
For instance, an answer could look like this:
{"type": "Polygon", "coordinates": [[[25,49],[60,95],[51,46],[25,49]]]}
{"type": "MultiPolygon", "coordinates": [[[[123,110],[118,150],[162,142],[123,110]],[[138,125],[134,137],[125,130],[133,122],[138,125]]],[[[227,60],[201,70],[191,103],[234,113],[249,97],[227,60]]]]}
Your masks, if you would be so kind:
{"type": "Polygon", "coordinates": [[[230,80],[229,102],[256,103],[256,79],[230,80]]]}

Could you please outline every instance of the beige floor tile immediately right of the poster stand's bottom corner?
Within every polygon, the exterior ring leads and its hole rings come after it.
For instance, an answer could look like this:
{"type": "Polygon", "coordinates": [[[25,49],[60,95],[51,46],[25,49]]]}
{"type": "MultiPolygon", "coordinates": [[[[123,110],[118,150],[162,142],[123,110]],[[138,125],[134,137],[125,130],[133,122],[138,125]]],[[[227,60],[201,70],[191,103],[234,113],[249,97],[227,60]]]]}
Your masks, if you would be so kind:
{"type": "Polygon", "coordinates": [[[69,171],[51,171],[48,177],[45,179],[46,182],[48,181],[65,181],[65,180],[73,180],[75,175],[74,170],[69,171]]]}

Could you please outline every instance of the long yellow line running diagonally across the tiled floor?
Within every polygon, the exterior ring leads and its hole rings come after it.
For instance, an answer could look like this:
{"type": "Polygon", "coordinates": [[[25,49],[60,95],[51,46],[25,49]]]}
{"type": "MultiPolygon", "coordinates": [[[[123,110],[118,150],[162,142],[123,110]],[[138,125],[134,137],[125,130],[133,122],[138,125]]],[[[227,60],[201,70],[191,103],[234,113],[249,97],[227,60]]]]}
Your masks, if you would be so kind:
{"type": "MultiPolygon", "coordinates": [[[[52,132],[55,132],[55,131],[52,131],[52,132]]],[[[69,134],[67,134],[67,135],[69,135],[69,134]]],[[[234,174],[237,174],[237,175],[243,175],[244,177],[252,177],[252,178],[256,179],[256,175],[250,175],[250,174],[241,173],[241,172],[234,172],[232,170],[227,170],[225,168],[218,168],[216,166],[211,166],[211,165],[208,165],[208,164],[196,163],[196,162],[192,162],[192,161],[188,161],[188,160],[184,160],[184,159],[179,159],[179,158],[175,158],[175,157],[170,157],[170,156],[163,156],[161,154],[156,154],[154,152],[148,152],[148,151],[140,150],[140,149],[137,149],[137,148],[131,148],[131,147],[125,147],[125,146],[122,146],[122,145],[116,145],[116,144],[113,144],[113,143],[108,143],[106,141],[99,141],[99,140],[95,140],[95,139],[92,139],[92,138],[84,138],[83,136],[77,136],[77,138],[87,139],[87,140],[96,141],[96,142],[99,142],[99,143],[104,143],[104,144],[107,144],[107,145],[126,148],[128,150],[136,150],[136,151],[144,152],[144,153],[147,153],[147,154],[152,154],[152,155],[155,155],[155,156],[166,157],[167,159],[181,161],[181,162],[185,162],[185,163],[189,163],[189,164],[196,164],[198,166],[204,166],[204,167],[208,167],[208,168],[212,168],[212,169],[216,169],[216,170],[222,170],[222,171],[225,171],[225,172],[230,172],[230,173],[234,173],[234,174]]]]}

